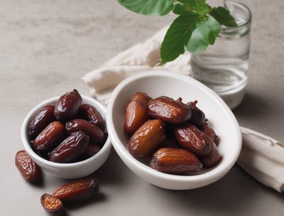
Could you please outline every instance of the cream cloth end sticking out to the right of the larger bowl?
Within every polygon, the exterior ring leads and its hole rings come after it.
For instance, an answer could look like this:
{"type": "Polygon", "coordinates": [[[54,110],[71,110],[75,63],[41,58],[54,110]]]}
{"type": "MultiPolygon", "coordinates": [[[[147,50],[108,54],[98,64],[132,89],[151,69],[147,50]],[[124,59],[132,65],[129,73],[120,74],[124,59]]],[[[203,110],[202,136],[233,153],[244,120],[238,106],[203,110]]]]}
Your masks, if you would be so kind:
{"type": "Polygon", "coordinates": [[[241,132],[239,166],[263,185],[284,191],[284,143],[242,126],[241,132]]]}

